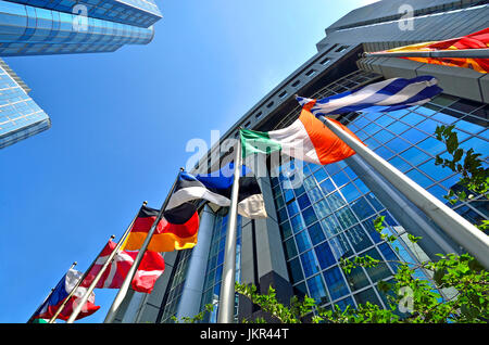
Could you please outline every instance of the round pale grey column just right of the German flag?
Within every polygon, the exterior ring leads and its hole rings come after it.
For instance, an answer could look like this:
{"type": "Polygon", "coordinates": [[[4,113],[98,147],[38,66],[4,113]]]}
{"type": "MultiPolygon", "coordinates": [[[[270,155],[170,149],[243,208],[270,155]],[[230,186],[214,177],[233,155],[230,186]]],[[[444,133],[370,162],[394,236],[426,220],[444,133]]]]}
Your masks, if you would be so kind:
{"type": "Polygon", "coordinates": [[[200,216],[199,234],[197,245],[192,250],[190,261],[181,292],[176,318],[195,317],[200,311],[200,302],[205,282],[205,270],[209,261],[209,251],[212,241],[215,216],[205,205],[200,216]]]}

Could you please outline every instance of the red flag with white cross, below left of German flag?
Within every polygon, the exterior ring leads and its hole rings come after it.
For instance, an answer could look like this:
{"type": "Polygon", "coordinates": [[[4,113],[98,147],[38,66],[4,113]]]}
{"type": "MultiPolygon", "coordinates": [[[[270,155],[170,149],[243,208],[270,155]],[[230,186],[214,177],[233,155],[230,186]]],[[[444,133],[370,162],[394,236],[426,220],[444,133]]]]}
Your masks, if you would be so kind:
{"type": "MultiPolygon", "coordinates": [[[[105,247],[100,253],[93,267],[88,272],[82,286],[90,286],[95,277],[100,272],[102,266],[105,264],[109,255],[114,251],[115,243],[109,241],[105,247]]],[[[121,251],[115,255],[112,264],[105,269],[102,278],[98,281],[97,289],[120,289],[127,277],[127,272],[133,266],[137,256],[137,252],[121,251]]],[[[131,288],[134,291],[142,293],[151,293],[154,283],[160,278],[165,269],[165,261],[160,253],[146,252],[142,257],[141,264],[136,271],[136,276],[133,279],[131,288]]]]}

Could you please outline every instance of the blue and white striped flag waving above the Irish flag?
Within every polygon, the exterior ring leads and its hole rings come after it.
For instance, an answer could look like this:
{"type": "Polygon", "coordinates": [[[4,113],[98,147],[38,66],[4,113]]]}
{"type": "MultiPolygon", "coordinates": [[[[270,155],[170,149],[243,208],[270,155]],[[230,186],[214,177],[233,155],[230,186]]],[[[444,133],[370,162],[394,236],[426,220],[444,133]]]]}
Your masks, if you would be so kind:
{"type": "Polygon", "coordinates": [[[432,76],[392,78],[321,100],[297,97],[297,101],[302,106],[312,105],[310,111],[316,117],[360,111],[392,112],[428,102],[443,91],[437,84],[432,76]]]}

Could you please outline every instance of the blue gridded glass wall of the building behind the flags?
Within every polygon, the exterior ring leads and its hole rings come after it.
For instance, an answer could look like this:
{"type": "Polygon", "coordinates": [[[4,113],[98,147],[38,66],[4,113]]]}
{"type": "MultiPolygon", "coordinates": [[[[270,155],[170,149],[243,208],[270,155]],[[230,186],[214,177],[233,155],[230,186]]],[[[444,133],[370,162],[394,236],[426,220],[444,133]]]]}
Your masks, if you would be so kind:
{"type": "MultiPolygon", "coordinates": [[[[481,103],[440,95],[410,110],[350,114],[347,123],[368,148],[447,203],[443,195],[461,176],[435,165],[437,154],[447,156],[444,144],[435,138],[435,128],[454,124],[460,146],[481,153],[487,167],[488,111],[481,103]]],[[[389,213],[391,206],[383,205],[346,162],[292,164],[276,167],[273,173],[274,200],[296,294],[312,296],[326,307],[356,306],[367,301],[385,306],[377,283],[392,278],[394,263],[359,267],[350,274],[338,263],[359,255],[383,261],[416,261],[404,228],[389,213]],[[302,174],[303,183],[297,183],[297,174],[302,174]],[[385,233],[397,237],[392,244],[375,231],[373,221],[380,215],[386,216],[385,233]]],[[[482,195],[476,195],[451,206],[475,223],[488,219],[488,204],[482,195]]],[[[423,272],[418,274],[429,280],[423,272]]]]}

